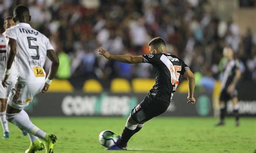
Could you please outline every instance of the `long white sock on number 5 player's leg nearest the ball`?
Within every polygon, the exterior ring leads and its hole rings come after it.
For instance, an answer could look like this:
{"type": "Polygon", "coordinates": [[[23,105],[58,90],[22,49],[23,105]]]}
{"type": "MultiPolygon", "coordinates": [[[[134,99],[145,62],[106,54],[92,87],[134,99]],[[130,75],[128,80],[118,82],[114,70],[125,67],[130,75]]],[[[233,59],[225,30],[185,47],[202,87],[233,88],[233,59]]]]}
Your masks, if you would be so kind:
{"type": "Polygon", "coordinates": [[[15,124],[19,129],[26,131],[30,137],[31,142],[36,140],[36,137],[45,140],[46,133],[36,127],[30,120],[29,115],[24,110],[18,114],[6,114],[8,121],[15,124]],[[32,136],[31,136],[32,135],[32,136]],[[36,137],[35,137],[36,136],[36,137]]]}

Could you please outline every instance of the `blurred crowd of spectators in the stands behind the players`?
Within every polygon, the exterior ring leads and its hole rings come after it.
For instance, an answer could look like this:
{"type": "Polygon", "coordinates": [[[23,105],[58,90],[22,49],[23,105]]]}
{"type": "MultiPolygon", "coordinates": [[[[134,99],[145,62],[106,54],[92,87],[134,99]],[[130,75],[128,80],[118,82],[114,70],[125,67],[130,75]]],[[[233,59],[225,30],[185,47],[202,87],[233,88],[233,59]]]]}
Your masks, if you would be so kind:
{"type": "Polygon", "coordinates": [[[96,50],[146,54],[149,40],[160,36],[205,89],[219,78],[226,45],[242,62],[243,79],[256,81],[255,33],[248,29],[241,36],[239,27],[220,20],[205,0],[0,1],[1,25],[17,4],[29,6],[32,26],[50,38],[60,59],[59,79],[151,78],[149,64],[106,60],[96,50]]]}

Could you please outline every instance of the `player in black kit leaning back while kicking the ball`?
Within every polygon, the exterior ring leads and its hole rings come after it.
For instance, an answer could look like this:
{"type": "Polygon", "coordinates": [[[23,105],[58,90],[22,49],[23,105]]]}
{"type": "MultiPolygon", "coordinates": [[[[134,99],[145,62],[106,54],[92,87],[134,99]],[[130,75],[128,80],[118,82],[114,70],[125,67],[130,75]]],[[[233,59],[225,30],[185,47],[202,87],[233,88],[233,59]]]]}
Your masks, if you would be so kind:
{"type": "Polygon", "coordinates": [[[187,103],[195,103],[194,98],[194,74],[185,62],[175,55],[166,51],[165,41],[154,38],[149,43],[150,53],[147,55],[111,55],[103,48],[98,52],[107,59],[127,62],[129,64],[147,62],[152,64],[156,75],[156,84],[145,96],[140,104],[133,108],[127,119],[122,135],[116,144],[107,150],[126,150],[127,142],[130,138],[142,129],[144,123],[166,111],[169,107],[172,96],[179,84],[180,75],[184,75],[188,80],[189,92],[187,103]]]}

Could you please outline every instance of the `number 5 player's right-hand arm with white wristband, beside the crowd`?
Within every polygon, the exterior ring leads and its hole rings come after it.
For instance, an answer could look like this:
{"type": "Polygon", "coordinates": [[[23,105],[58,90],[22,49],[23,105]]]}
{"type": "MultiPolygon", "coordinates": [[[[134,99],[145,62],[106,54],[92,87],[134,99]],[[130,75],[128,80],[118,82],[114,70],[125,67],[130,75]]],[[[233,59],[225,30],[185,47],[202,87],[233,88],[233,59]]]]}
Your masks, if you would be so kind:
{"type": "Polygon", "coordinates": [[[52,64],[51,64],[50,73],[48,74],[48,77],[45,80],[44,88],[42,89],[43,93],[48,91],[51,81],[54,78],[55,74],[57,73],[57,70],[59,67],[59,59],[53,50],[47,50],[47,57],[52,61],[52,64]]]}

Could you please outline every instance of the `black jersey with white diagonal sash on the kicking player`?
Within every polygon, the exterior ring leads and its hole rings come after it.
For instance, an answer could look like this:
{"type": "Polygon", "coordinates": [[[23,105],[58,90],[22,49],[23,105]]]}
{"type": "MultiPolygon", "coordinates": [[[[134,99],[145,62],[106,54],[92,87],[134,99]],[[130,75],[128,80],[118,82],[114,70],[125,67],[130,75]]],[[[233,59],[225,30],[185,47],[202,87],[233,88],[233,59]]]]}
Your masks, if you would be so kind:
{"type": "Polygon", "coordinates": [[[144,62],[152,64],[156,75],[156,84],[150,94],[160,101],[171,102],[179,85],[180,74],[183,75],[189,67],[183,60],[169,53],[146,54],[143,58],[144,62]]]}

